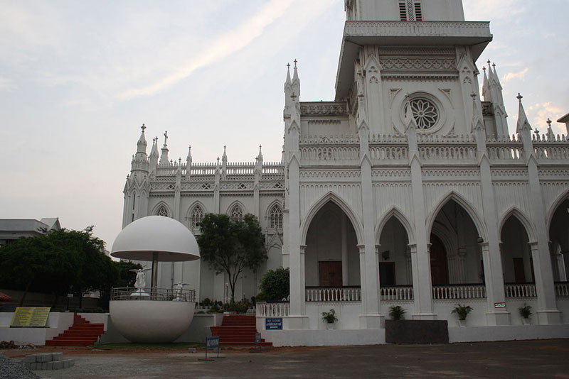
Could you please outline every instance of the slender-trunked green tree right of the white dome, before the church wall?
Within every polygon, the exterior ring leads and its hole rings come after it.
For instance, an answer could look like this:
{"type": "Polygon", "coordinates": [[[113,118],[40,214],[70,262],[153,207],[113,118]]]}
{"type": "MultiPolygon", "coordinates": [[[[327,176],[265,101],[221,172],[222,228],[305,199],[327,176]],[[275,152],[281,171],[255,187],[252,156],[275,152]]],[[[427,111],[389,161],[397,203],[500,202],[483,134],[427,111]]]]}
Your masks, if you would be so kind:
{"type": "Polygon", "coordinates": [[[235,301],[235,283],[245,268],[257,270],[267,259],[265,238],[259,221],[245,214],[243,221],[234,221],[226,214],[206,214],[198,236],[201,259],[216,274],[227,273],[231,301],[235,301]]]}

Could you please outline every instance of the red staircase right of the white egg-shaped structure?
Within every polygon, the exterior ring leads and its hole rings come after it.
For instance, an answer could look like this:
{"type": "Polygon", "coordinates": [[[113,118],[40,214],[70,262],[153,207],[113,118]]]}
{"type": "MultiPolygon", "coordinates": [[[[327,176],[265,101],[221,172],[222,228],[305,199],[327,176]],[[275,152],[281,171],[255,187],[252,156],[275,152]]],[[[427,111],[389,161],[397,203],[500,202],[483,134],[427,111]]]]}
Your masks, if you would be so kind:
{"type": "MultiPolygon", "coordinates": [[[[211,336],[219,336],[220,346],[255,346],[255,315],[226,314],[221,326],[211,326],[211,336]]],[[[260,346],[272,346],[261,340],[260,346]]]]}

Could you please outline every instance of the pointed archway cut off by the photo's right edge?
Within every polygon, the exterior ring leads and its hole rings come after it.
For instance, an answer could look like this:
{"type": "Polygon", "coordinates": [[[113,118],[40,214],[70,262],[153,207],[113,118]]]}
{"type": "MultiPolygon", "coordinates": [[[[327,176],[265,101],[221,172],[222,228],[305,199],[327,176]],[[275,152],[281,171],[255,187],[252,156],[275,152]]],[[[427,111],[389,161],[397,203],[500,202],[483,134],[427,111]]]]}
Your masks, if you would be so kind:
{"type": "Polygon", "coordinates": [[[569,273],[569,198],[555,209],[549,225],[553,280],[566,282],[569,273]]]}

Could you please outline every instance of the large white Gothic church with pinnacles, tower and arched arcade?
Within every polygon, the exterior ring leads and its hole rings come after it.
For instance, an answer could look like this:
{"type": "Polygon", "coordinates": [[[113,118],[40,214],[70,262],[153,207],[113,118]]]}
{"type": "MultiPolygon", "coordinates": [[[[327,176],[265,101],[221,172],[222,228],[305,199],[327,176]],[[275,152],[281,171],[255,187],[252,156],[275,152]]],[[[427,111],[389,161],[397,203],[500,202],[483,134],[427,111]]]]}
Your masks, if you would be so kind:
{"type": "MultiPolygon", "coordinates": [[[[551,123],[532,128],[521,96],[509,134],[496,67],[475,65],[489,22],[464,21],[461,0],[346,0],[345,10],[335,99],[301,101],[289,67],[281,162],[261,150],[251,163],[225,150],[176,162],[166,133],[147,153],[143,126],[123,227],[162,215],[197,235],[206,213],[257,216],[269,258],[235,297],[254,296],[265,270],[290,268],[289,301],[257,304],[258,329],[282,317],[284,330],[262,331],[275,344],[381,343],[393,305],[448,320],[455,341],[569,336],[569,139],[551,123]],[[467,328],[457,303],[473,308],[467,328]],[[521,326],[523,304],[532,326],[521,326]],[[329,309],[334,331],[321,321],[329,309]]],[[[160,287],[228,296],[205,262],[160,266],[160,287]]]]}

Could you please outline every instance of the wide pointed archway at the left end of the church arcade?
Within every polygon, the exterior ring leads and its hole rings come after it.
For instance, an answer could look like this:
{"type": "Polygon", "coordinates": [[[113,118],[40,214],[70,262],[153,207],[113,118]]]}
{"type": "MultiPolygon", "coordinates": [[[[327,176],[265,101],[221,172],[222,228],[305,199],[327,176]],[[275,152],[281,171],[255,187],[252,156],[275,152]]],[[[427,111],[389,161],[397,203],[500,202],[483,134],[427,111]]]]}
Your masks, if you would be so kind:
{"type": "Polygon", "coordinates": [[[346,213],[329,201],[307,231],[304,256],[307,287],[360,285],[356,231],[346,213]]]}

